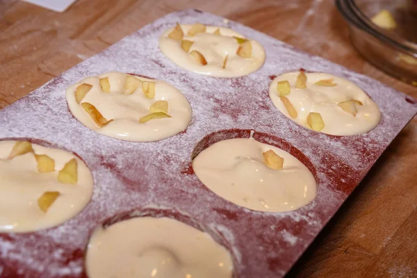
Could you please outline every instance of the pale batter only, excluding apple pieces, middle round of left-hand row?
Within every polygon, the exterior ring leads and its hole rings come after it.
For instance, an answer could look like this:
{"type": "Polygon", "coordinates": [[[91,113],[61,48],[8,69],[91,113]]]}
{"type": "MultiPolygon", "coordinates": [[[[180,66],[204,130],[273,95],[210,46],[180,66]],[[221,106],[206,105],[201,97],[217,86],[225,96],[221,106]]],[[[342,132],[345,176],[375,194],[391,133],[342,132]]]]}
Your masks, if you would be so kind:
{"type": "Polygon", "coordinates": [[[186,97],[171,85],[158,80],[134,76],[140,82],[155,83],[155,95],[147,98],[139,85],[131,94],[126,94],[126,74],[109,72],[99,76],[88,77],[67,89],[67,102],[70,111],[85,126],[98,133],[113,138],[149,142],[174,136],[184,131],[191,120],[191,106],[186,97]],[[110,92],[101,89],[99,80],[108,78],[110,92]],[[87,102],[97,108],[99,113],[108,121],[105,126],[98,126],[85,109],[76,101],[75,91],[81,84],[92,85],[83,97],[81,104],[87,102]],[[170,117],[157,118],[141,123],[140,118],[151,113],[149,108],[156,101],[167,101],[167,115],[170,117]]]}

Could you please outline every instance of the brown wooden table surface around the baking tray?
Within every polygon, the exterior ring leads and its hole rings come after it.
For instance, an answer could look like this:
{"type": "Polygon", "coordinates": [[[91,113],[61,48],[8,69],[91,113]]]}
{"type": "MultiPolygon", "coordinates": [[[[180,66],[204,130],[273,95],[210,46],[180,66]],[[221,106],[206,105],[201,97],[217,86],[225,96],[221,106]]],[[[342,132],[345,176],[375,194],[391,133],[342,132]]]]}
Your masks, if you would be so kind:
{"type": "MultiPolygon", "coordinates": [[[[0,0],[0,108],[158,17],[186,8],[240,22],[417,98],[416,88],[355,51],[333,2],[80,0],[55,13],[0,0]]],[[[394,140],[288,277],[417,277],[416,122],[394,140]]]]}

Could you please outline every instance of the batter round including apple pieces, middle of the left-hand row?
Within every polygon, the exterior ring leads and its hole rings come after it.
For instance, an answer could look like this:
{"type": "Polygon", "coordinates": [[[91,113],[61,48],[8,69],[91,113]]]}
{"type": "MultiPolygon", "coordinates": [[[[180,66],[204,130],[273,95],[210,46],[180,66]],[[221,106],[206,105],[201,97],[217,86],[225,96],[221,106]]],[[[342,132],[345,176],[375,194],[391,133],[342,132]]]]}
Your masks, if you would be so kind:
{"type": "Polygon", "coordinates": [[[88,77],[67,89],[72,114],[82,124],[113,138],[148,142],[184,131],[191,106],[171,85],[110,72],[88,77]]]}

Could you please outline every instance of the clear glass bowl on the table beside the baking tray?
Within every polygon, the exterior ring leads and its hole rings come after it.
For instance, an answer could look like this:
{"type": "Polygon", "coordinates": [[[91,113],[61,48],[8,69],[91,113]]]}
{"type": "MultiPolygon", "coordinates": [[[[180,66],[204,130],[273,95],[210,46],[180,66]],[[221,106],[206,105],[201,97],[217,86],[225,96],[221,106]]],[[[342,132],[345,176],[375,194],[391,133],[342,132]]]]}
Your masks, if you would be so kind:
{"type": "Polygon", "coordinates": [[[417,1],[336,0],[350,26],[352,44],[370,63],[417,87],[417,1]],[[379,28],[371,18],[389,10],[397,27],[379,28]]]}

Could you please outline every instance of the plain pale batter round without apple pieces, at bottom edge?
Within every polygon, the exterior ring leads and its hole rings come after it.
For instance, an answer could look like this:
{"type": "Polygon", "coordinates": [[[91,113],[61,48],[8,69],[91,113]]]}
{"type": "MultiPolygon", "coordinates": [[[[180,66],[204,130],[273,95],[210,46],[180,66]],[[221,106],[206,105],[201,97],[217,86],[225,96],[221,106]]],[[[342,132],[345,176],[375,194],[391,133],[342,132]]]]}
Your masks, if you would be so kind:
{"type": "Polygon", "coordinates": [[[229,278],[233,263],[211,236],[170,218],[131,218],[93,232],[90,278],[229,278]]]}

